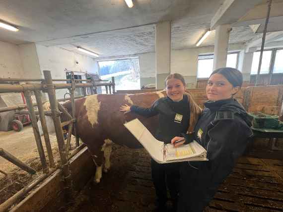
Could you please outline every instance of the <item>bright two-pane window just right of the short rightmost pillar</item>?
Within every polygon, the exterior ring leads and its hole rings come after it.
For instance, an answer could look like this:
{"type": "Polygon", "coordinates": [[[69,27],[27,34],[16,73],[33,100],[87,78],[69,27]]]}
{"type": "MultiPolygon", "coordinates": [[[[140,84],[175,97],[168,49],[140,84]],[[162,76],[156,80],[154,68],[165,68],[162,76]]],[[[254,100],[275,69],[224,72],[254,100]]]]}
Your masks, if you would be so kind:
{"type": "MultiPolygon", "coordinates": [[[[271,50],[263,52],[260,74],[268,74],[269,73],[271,54],[272,54],[271,50]]],[[[253,61],[252,61],[251,74],[257,74],[258,73],[259,58],[260,58],[260,52],[255,52],[254,56],[253,56],[253,61]]]]}

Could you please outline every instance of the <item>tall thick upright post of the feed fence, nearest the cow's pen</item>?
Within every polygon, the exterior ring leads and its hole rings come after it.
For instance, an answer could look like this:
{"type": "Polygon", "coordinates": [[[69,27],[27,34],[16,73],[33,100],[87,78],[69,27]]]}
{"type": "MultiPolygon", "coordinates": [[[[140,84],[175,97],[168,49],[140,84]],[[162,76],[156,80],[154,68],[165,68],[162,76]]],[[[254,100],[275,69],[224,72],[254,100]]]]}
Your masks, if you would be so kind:
{"type": "Polygon", "coordinates": [[[52,78],[50,71],[43,71],[45,83],[46,83],[46,90],[49,97],[50,107],[52,111],[52,117],[54,120],[54,126],[55,126],[55,132],[59,147],[59,153],[62,163],[62,169],[64,174],[64,180],[66,183],[66,186],[64,187],[66,189],[66,197],[70,200],[73,198],[73,188],[72,188],[72,179],[71,179],[71,172],[70,172],[70,164],[67,159],[66,154],[66,148],[64,144],[64,135],[63,130],[61,127],[61,120],[60,120],[60,112],[58,110],[58,103],[56,100],[56,93],[55,93],[55,85],[52,84],[52,78]]]}

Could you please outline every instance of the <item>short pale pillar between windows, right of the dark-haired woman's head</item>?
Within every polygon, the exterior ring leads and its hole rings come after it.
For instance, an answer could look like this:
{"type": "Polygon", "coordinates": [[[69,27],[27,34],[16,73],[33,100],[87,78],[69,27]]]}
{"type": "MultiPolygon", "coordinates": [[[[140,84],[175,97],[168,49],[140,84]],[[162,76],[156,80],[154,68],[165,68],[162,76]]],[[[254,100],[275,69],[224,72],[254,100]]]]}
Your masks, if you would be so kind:
{"type": "Polygon", "coordinates": [[[239,54],[238,69],[242,72],[244,81],[250,81],[253,56],[254,53],[245,53],[245,51],[239,54]]]}

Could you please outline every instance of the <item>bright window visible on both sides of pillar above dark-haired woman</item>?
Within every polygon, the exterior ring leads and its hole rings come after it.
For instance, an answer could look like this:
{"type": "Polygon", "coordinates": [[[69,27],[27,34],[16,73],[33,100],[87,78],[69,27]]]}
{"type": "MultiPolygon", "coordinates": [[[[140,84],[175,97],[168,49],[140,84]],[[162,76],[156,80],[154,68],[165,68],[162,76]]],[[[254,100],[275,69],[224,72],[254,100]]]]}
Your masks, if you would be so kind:
{"type": "MultiPolygon", "coordinates": [[[[199,55],[198,78],[209,78],[213,70],[213,54],[199,55]]],[[[237,68],[238,53],[228,53],[226,67],[237,68]]]]}

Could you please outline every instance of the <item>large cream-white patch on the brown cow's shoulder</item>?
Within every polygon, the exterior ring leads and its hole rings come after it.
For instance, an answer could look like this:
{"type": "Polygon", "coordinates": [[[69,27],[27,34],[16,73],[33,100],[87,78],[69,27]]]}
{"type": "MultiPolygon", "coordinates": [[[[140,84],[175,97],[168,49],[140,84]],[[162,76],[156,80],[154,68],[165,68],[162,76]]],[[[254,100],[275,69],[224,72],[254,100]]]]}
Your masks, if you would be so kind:
{"type": "Polygon", "coordinates": [[[98,123],[98,111],[100,109],[100,102],[98,102],[97,95],[91,95],[85,98],[84,106],[88,121],[93,126],[98,123]]]}

